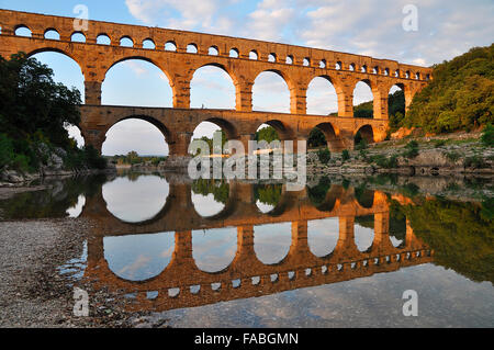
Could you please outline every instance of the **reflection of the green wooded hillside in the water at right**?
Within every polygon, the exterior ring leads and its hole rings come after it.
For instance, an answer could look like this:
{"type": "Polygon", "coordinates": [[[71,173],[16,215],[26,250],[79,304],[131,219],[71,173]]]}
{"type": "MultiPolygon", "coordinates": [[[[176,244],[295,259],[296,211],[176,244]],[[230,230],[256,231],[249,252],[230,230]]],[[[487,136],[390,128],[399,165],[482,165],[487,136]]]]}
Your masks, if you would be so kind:
{"type": "Polygon", "coordinates": [[[494,282],[494,221],[483,206],[446,200],[406,206],[394,203],[411,221],[414,234],[435,251],[435,263],[473,281],[494,282]]]}

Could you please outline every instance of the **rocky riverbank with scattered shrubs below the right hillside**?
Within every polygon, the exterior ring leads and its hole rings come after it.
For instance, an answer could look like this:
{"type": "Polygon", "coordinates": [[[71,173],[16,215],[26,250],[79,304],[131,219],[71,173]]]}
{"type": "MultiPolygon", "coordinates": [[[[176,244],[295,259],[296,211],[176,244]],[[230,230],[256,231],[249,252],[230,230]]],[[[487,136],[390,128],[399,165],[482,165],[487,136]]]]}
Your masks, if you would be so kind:
{"type": "Polygon", "coordinates": [[[371,144],[324,159],[307,153],[307,174],[494,176],[494,148],[480,133],[405,137],[371,144]]]}

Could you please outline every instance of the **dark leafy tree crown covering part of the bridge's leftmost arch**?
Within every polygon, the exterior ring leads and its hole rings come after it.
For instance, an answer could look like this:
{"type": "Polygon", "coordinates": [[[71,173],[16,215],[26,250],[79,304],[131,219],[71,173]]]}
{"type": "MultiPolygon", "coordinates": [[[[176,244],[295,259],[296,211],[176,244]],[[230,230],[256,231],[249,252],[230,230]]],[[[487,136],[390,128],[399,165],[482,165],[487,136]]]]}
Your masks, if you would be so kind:
{"type": "Polygon", "coordinates": [[[80,92],[53,80],[53,70],[20,53],[0,57],[0,131],[14,142],[41,132],[68,147],[67,124],[78,125],[80,92]]]}

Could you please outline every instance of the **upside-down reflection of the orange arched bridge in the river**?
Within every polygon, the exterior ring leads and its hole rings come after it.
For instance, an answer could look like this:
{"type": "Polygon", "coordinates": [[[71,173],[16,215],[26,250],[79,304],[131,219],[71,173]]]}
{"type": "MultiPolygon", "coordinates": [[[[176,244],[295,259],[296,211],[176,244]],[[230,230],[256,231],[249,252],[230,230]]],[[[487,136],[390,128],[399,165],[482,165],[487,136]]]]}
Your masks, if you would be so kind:
{"type": "Polygon", "coordinates": [[[369,191],[366,203],[361,203],[353,189],[333,184],[315,205],[308,190],[281,189],[278,204],[262,213],[256,205],[255,187],[229,182],[223,210],[202,217],[191,201],[191,184],[170,182],[162,210],[141,223],[116,218],[106,210],[101,192],[87,199],[81,216],[91,218],[93,224],[85,276],[96,290],[135,296],[126,303],[130,309],[159,312],[348,281],[433,261],[434,252],[414,235],[408,221],[403,241],[397,247],[393,245],[389,201],[382,192],[369,191]],[[373,216],[374,238],[367,250],[360,251],[356,244],[356,217],[369,215],[373,216]],[[307,242],[308,222],[329,217],[339,223],[336,247],[326,256],[315,256],[307,242]],[[281,223],[291,225],[289,252],[276,263],[263,263],[255,250],[257,226],[281,223]],[[201,270],[193,256],[192,232],[223,227],[237,232],[233,261],[216,272],[201,270]],[[131,281],[111,270],[104,252],[105,237],[137,235],[134,237],[138,239],[138,235],[165,232],[175,233],[175,249],[168,266],[157,275],[131,281]]]}

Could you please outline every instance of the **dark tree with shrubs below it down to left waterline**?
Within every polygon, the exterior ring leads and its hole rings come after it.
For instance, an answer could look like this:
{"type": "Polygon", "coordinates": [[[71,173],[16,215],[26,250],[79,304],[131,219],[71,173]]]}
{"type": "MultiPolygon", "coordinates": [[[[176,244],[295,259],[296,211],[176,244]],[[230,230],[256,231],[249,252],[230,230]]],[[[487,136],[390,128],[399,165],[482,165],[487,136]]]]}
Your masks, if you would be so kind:
{"type": "Polygon", "coordinates": [[[80,92],[53,76],[23,53],[0,56],[0,170],[37,171],[53,155],[69,169],[106,166],[96,149],[79,149],[69,137],[66,126],[80,122],[80,92]]]}

